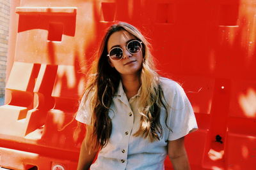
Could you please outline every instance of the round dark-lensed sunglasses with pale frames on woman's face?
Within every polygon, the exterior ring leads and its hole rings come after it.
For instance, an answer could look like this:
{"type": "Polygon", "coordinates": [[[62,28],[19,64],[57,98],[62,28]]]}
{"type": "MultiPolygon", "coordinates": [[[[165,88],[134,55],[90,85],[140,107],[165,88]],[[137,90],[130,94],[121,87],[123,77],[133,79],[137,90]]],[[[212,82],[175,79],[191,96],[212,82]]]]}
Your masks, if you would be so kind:
{"type": "MultiPolygon", "coordinates": [[[[138,41],[136,39],[130,41],[126,45],[126,49],[129,53],[135,54],[140,52],[142,41],[138,41]]],[[[124,57],[124,50],[121,47],[114,47],[108,53],[108,57],[111,60],[121,60],[124,57]]]]}

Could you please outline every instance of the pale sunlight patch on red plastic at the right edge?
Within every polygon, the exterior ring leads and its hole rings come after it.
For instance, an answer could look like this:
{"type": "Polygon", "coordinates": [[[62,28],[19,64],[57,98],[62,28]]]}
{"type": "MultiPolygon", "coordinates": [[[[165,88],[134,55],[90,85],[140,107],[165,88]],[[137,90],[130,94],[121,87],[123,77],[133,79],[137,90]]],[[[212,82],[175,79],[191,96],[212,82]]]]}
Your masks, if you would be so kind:
{"type": "Polygon", "coordinates": [[[249,88],[246,94],[240,94],[238,98],[239,104],[244,111],[246,117],[256,117],[256,92],[249,88]]]}

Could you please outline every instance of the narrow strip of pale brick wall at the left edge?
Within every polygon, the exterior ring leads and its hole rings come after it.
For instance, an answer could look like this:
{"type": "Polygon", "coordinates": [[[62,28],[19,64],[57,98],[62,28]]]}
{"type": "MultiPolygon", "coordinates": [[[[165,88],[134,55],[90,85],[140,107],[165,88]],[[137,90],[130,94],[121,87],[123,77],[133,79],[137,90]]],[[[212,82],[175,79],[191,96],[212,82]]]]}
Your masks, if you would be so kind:
{"type": "Polygon", "coordinates": [[[10,0],[0,1],[0,97],[4,96],[10,20],[10,0]]]}

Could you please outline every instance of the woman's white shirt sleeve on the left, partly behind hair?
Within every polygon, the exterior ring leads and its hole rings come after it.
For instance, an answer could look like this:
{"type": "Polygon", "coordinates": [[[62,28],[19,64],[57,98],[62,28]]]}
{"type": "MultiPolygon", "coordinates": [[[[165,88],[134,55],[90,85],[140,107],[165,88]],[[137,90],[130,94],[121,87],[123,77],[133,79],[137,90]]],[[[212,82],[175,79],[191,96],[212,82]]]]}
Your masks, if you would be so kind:
{"type": "Polygon", "coordinates": [[[92,96],[92,93],[89,93],[86,99],[86,93],[84,93],[76,115],[77,121],[87,125],[91,124],[92,111],[90,110],[90,101],[92,99],[92,96]]]}

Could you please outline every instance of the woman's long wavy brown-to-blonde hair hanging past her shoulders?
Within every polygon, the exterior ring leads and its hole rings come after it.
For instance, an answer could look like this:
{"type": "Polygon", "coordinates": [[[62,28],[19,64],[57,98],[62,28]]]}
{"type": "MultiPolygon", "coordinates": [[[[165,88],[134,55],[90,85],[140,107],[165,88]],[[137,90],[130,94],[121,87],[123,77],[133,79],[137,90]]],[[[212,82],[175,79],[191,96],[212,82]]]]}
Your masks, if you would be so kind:
{"type": "MultiPolygon", "coordinates": [[[[92,113],[90,122],[93,132],[90,136],[90,143],[95,143],[95,147],[106,146],[112,131],[108,111],[118,89],[120,74],[109,64],[107,44],[111,34],[117,31],[127,31],[142,41],[143,64],[140,70],[141,94],[138,108],[141,121],[140,129],[134,136],[143,136],[143,138],[148,138],[150,142],[159,140],[163,136],[159,117],[161,106],[164,106],[164,97],[159,85],[159,74],[156,72],[154,57],[150,53],[150,44],[136,27],[125,22],[118,22],[111,25],[106,32],[90,67],[84,90],[86,96],[84,103],[90,100],[92,113]],[[93,93],[92,97],[88,97],[90,93],[93,93]]],[[[166,107],[164,106],[164,108],[166,107]]]]}

